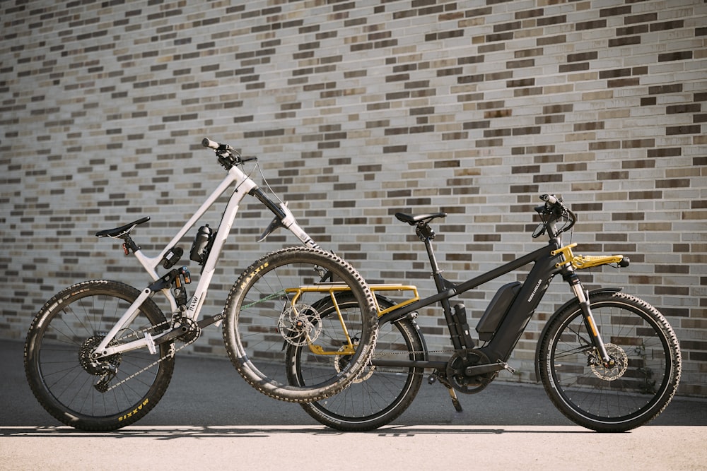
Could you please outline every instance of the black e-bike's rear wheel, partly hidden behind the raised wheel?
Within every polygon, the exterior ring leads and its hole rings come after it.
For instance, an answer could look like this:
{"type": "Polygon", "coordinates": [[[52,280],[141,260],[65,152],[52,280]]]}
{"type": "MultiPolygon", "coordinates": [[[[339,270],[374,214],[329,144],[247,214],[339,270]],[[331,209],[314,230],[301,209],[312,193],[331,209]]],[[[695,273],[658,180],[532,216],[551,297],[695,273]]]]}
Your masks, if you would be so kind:
{"type": "MultiPolygon", "coordinates": [[[[380,309],[394,304],[387,298],[376,297],[380,309]]],[[[337,299],[339,310],[360,311],[356,299],[342,295],[337,299]]],[[[331,299],[322,299],[317,306],[322,318],[336,315],[331,299]]],[[[423,339],[416,323],[409,318],[381,324],[378,327],[373,358],[425,358],[423,339]]],[[[305,386],[317,381],[307,376],[310,352],[306,347],[288,345],[288,375],[291,383],[305,386]]],[[[301,404],[305,412],[321,424],[341,431],[366,431],[389,424],[399,417],[414,400],[423,379],[424,369],[405,366],[366,366],[360,376],[341,393],[314,403],[301,404]]]]}

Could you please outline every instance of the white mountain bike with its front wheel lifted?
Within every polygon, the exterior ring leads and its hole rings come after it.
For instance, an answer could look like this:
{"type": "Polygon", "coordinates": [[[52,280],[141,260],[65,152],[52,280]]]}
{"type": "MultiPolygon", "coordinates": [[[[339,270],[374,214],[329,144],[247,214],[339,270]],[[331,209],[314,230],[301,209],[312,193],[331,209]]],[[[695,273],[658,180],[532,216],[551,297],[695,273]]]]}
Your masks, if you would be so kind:
{"type": "Polygon", "coordinates": [[[131,236],[149,217],[96,233],[122,239],[125,254],[137,258],[151,284],[137,290],[111,280],[79,282],[49,299],[30,326],[24,354],[30,388],[64,424],[107,431],[144,417],[170,383],[177,350],[220,321],[226,350],[238,372],[272,398],[322,400],[346,388],[368,363],[378,324],[365,280],[339,256],[320,249],[286,204],[271,200],[243,171],[243,163],[255,159],[243,159],[230,145],[209,139],[202,145],[214,149],[228,173],[157,256],[144,254],[131,236]],[[177,244],[219,196],[234,187],[218,227],[201,226],[194,237],[189,258],[202,268],[189,297],[191,275],[186,266],[178,265],[184,250],[177,244]],[[286,227],[303,246],[260,258],[235,282],[223,311],[200,316],[221,249],[246,195],[275,215],[260,240],[286,227]],[[163,275],[158,275],[160,266],[167,270],[163,275]],[[152,299],[157,293],[168,300],[169,316],[152,299]],[[322,296],[337,305],[344,294],[368,309],[320,316],[314,305],[322,296]],[[308,354],[288,364],[288,345],[306,346],[308,354]],[[308,386],[291,386],[288,369],[306,375],[308,386]]]}

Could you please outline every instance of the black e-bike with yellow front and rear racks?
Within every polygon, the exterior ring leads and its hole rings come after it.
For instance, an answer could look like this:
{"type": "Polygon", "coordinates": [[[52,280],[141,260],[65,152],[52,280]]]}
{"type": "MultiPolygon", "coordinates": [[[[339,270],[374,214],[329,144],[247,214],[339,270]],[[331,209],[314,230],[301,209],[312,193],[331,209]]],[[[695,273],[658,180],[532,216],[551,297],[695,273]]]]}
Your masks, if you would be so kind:
{"type": "MultiPolygon", "coordinates": [[[[611,264],[629,266],[621,256],[580,256],[577,244],[563,246],[561,234],[575,225],[575,214],[561,198],[543,195],[544,205],[535,210],[542,222],[532,237],[543,234],[549,244],[462,283],[451,282],[433,253],[435,237],[430,222],[445,213],[396,214],[416,228],[432,266],[437,294],[395,303],[375,293],[379,311],[378,343],[370,364],[346,390],[325,400],[302,404],[317,421],[342,431],[365,431],[388,424],[412,403],[431,369],[431,383],[439,381],[461,410],[457,392],[478,393],[507,369],[507,360],[555,275],[561,275],[573,299],[549,317],[536,349],[536,374],[552,403],[569,419],[595,431],[626,431],[639,427],[665,410],[680,378],[678,340],[665,317],[647,302],[606,287],[588,292],[578,270],[611,264]],[[479,285],[532,263],[525,282],[503,285],[491,299],[477,326],[480,345],[470,333],[462,304],[450,299],[479,285]],[[416,311],[440,302],[449,328],[453,350],[448,357],[433,359],[419,326],[416,311]]],[[[395,290],[395,285],[371,290],[395,290]]],[[[356,299],[341,294],[337,306],[323,298],[314,308],[320,318],[341,311],[357,311],[356,299]]],[[[304,347],[288,345],[288,364],[306,364],[304,347]]],[[[297,368],[288,381],[307,386],[311,380],[297,368]]]]}

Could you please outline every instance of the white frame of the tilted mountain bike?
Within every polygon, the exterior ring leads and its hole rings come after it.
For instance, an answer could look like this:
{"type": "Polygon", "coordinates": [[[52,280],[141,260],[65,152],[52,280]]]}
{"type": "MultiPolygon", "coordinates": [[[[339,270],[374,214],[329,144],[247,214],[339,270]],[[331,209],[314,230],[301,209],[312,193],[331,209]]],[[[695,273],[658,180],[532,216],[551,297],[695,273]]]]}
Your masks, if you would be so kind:
{"type": "MultiPolygon", "coordinates": [[[[221,184],[218,185],[216,190],[211,193],[211,196],[209,196],[209,198],[206,198],[204,204],[201,205],[201,207],[197,210],[196,213],[194,213],[191,219],[187,221],[187,223],[182,227],[182,229],[177,232],[177,235],[175,235],[175,237],[170,240],[170,242],[167,244],[167,246],[165,246],[165,248],[160,252],[158,256],[148,257],[143,254],[140,249],[134,251],[134,256],[138,259],[138,261],[141,263],[141,265],[145,268],[147,273],[154,281],[160,280],[160,276],[157,274],[156,268],[163,261],[163,257],[168,253],[168,251],[170,251],[170,249],[172,249],[178,242],[180,242],[182,237],[187,234],[189,229],[194,227],[194,225],[201,218],[201,216],[203,216],[204,213],[206,213],[206,211],[209,210],[209,208],[211,208],[214,203],[216,203],[216,200],[223,193],[226,193],[226,190],[228,190],[228,188],[233,184],[235,184],[235,190],[233,191],[233,195],[230,196],[230,200],[228,201],[226,210],[223,212],[223,216],[221,217],[221,222],[218,225],[218,232],[216,232],[215,234],[216,239],[214,239],[214,244],[211,246],[209,256],[206,258],[206,261],[204,261],[204,269],[201,272],[199,283],[197,284],[196,290],[194,290],[194,295],[192,296],[192,299],[189,302],[189,306],[187,306],[186,311],[182,314],[185,317],[191,318],[192,321],[196,321],[199,316],[201,306],[204,304],[204,300],[206,299],[206,293],[208,292],[209,285],[211,284],[211,278],[214,277],[214,272],[216,271],[216,261],[218,261],[218,257],[221,254],[221,249],[223,249],[223,245],[226,244],[226,239],[228,239],[230,229],[231,227],[233,227],[233,221],[235,220],[235,216],[238,214],[240,202],[243,201],[243,198],[245,198],[247,194],[252,193],[253,196],[256,196],[276,215],[268,230],[265,232],[265,234],[263,234],[264,237],[267,237],[267,234],[269,234],[271,229],[282,226],[286,229],[289,229],[293,234],[295,234],[295,236],[300,239],[300,241],[305,244],[305,246],[310,246],[312,248],[319,247],[309,237],[309,235],[304,231],[304,229],[302,229],[298,225],[295,220],[295,217],[287,208],[286,204],[280,203],[278,205],[273,201],[269,200],[269,198],[267,198],[267,196],[265,196],[265,194],[259,190],[259,187],[255,183],[255,181],[253,181],[247,174],[245,174],[245,172],[243,172],[238,167],[238,165],[233,165],[233,167],[230,167],[230,169],[228,170],[228,175],[226,176],[226,178],[224,178],[223,181],[221,181],[221,184]]],[[[264,237],[262,237],[261,240],[264,239],[264,237]]],[[[170,302],[171,312],[174,313],[177,312],[179,308],[177,306],[177,301],[174,295],[170,291],[170,287],[171,285],[165,287],[161,291],[170,302]]],[[[147,287],[141,292],[140,296],[135,300],[135,302],[133,302],[129,306],[127,311],[125,311],[125,313],[120,317],[119,321],[117,321],[115,326],[110,330],[110,332],[107,333],[103,341],[101,341],[98,347],[95,348],[93,352],[94,359],[100,359],[102,357],[107,357],[112,354],[127,352],[129,350],[136,350],[142,347],[147,347],[148,350],[150,350],[150,352],[153,354],[157,352],[155,340],[162,337],[163,335],[170,333],[172,329],[165,330],[165,332],[155,336],[149,333],[145,333],[144,337],[138,340],[127,342],[121,345],[115,345],[111,347],[108,346],[120,330],[127,328],[127,326],[129,326],[130,323],[134,321],[141,304],[153,294],[154,292],[153,290],[151,290],[150,287],[147,287]]]]}

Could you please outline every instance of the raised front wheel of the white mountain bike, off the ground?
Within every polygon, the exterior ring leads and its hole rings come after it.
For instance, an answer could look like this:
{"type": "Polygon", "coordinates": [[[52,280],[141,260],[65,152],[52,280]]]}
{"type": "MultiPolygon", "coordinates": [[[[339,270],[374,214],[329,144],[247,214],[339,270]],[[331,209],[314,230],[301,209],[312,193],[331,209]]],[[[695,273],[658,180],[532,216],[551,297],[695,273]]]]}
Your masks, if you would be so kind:
{"type": "Polygon", "coordinates": [[[349,263],[318,249],[282,249],[252,264],[233,285],[225,312],[223,340],[235,368],[279,400],[304,403],[338,393],[361,373],[375,346],[378,318],[366,282],[349,263]],[[317,300],[342,292],[363,309],[322,316],[317,300]],[[312,352],[300,366],[316,381],[289,383],[288,345],[312,352]]]}

